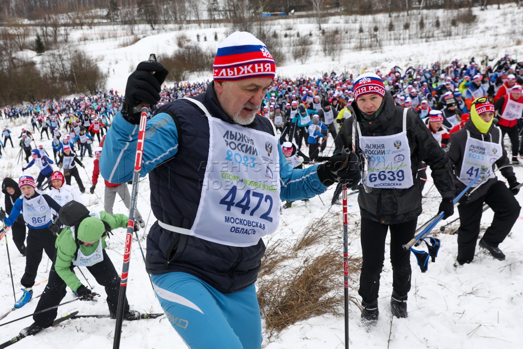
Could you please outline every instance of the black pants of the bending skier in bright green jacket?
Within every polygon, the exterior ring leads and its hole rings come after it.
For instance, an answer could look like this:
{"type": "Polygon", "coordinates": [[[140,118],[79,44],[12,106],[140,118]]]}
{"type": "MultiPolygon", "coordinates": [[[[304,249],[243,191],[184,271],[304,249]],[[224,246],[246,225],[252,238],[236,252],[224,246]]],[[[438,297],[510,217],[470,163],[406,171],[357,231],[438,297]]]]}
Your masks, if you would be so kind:
{"type": "MultiPolygon", "coordinates": [[[[105,287],[107,294],[107,306],[109,307],[109,314],[116,317],[118,308],[118,293],[120,290],[120,276],[116,272],[115,266],[112,264],[109,256],[102,250],[104,260],[92,266],[87,266],[87,270],[95,277],[96,282],[105,287]]],[[[54,270],[54,261],[56,260],[56,252],[54,252],[53,264],[51,265],[51,272],[49,273],[49,281],[46,289],[43,290],[42,297],[38,301],[35,312],[59,305],[67,293],[65,282],[54,270]]],[[[71,271],[75,265],[71,263],[71,271]]],[[[74,271],[73,271],[74,272],[74,271]]],[[[84,285],[85,286],[85,285],[84,285]]],[[[129,311],[129,303],[126,303],[124,313],[129,311]]],[[[50,327],[53,320],[56,319],[58,308],[44,311],[40,314],[33,315],[33,320],[41,327],[50,327]]]]}

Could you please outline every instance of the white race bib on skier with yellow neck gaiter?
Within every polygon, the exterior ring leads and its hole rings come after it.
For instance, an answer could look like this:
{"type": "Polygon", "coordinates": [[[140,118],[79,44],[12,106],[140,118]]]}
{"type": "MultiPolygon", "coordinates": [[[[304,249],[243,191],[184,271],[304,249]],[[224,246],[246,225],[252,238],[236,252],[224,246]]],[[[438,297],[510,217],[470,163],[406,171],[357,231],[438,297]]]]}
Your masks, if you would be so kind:
{"type": "MultiPolygon", "coordinates": [[[[499,131],[499,143],[472,138],[469,130],[467,130],[467,143],[465,144],[465,152],[463,153],[463,161],[461,162],[461,171],[459,173],[460,182],[469,185],[481,173],[482,167],[488,168],[486,172],[488,178],[496,178],[494,175],[494,162],[503,155],[501,130],[497,130],[499,131]]],[[[476,181],[472,184],[472,187],[476,187],[480,182],[476,181]]]]}

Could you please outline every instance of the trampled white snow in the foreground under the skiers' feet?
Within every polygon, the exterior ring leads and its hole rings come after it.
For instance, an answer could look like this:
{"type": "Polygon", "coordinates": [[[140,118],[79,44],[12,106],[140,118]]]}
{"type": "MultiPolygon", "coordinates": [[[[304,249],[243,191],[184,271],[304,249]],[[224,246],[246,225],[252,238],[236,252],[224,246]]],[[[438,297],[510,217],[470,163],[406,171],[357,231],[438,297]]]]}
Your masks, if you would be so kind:
{"type": "MultiPolygon", "coordinates": [[[[22,125],[10,127],[13,134],[20,132],[22,125]]],[[[330,139],[329,139],[330,142],[330,139]]],[[[40,142],[37,142],[40,144],[40,142]]],[[[42,142],[44,147],[48,147],[49,141],[42,142]]],[[[330,143],[329,145],[330,146],[330,143]]],[[[328,148],[328,147],[327,147],[328,148]]],[[[303,149],[303,148],[302,148],[303,149]]],[[[11,176],[17,178],[21,170],[21,164],[16,164],[18,148],[6,148],[7,155],[2,158],[2,178],[11,176]],[[9,159],[11,158],[11,159],[9,159]]],[[[307,150],[305,148],[305,150],[307,150]]],[[[93,170],[93,160],[84,157],[86,172],[80,169],[80,176],[84,185],[89,188],[90,175],[93,170]],[[88,178],[89,177],[89,178],[88,178]]],[[[23,160],[22,160],[23,161],[23,160]]],[[[25,166],[25,164],[24,164],[25,166]]],[[[523,168],[515,169],[519,181],[523,180],[523,168]]],[[[25,173],[37,175],[36,168],[30,168],[25,173]]],[[[430,180],[430,176],[429,180],[430,180]]],[[[502,178],[503,179],[503,178],[502,178]]],[[[74,179],[72,184],[77,187],[74,179]]],[[[329,203],[332,199],[333,189],[321,195],[325,206],[318,197],[311,199],[311,213],[304,206],[303,202],[294,203],[294,207],[282,210],[280,227],[276,235],[266,241],[274,243],[278,239],[293,240],[300,234],[310,220],[319,218],[327,212],[329,203]]],[[[97,185],[96,194],[104,197],[104,186],[97,185]]],[[[419,217],[419,222],[425,222],[436,214],[440,197],[431,183],[425,186],[424,213],[419,217]]],[[[103,210],[103,203],[96,195],[83,194],[83,200],[91,211],[103,210]]],[[[523,192],[517,195],[519,202],[523,202],[523,192]]],[[[348,196],[349,212],[358,215],[357,195],[348,196]]],[[[3,197],[2,197],[3,201],[3,197]]],[[[144,220],[149,217],[149,185],[147,178],[140,184],[140,197],[138,208],[144,220]]],[[[342,206],[333,206],[331,211],[341,212],[342,206]]],[[[115,204],[115,213],[127,213],[123,203],[115,204]]],[[[340,216],[341,217],[341,216],[340,216]]],[[[493,213],[491,210],[484,213],[482,226],[490,224],[493,213]]],[[[457,215],[449,218],[457,218],[457,215]]],[[[147,227],[154,222],[154,217],[149,219],[147,227]]],[[[442,223],[444,224],[445,221],[442,223]]],[[[354,223],[353,223],[354,224],[354,223]]],[[[439,232],[438,225],[434,232],[439,232]]],[[[457,227],[458,224],[453,224],[457,227]]],[[[349,227],[349,231],[354,225],[349,227]]],[[[147,228],[148,229],[148,228],[147,228]]],[[[121,270],[122,252],[124,245],[124,229],[113,231],[115,235],[108,239],[108,254],[115,264],[117,270],[121,270]]],[[[350,313],[350,344],[353,348],[487,348],[495,345],[503,345],[506,348],[520,348],[523,334],[520,332],[520,323],[523,321],[523,217],[516,222],[511,234],[500,246],[506,253],[507,259],[503,262],[494,260],[490,255],[485,254],[479,249],[476,250],[476,257],[471,264],[464,266],[454,266],[457,254],[457,236],[447,234],[437,234],[441,239],[441,249],[436,263],[429,263],[429,270],[422,274],[414,256],[411,256],[413,267],[412,289],[408,300],[408,318],[396,319],[391,322],[391,311],[389,306],[390,295],[392,293],[392,270],[388,257],[385,258],[384,270],[381,278],[380,289],[380,318],[378,325],[370,332],[359,325],[360,313],[354,306],[350,313]],[[391,334],[389,333],[391,332],[391,334]],[[390,335],[390,343],[389,341],[390,335]]],[[[144,231],[139,232],[140,236],[144,231]]],[[[343,234],[342,224],[339,224],[339,237],[343,234]]],[[[9,251],[15,288],[17,297],[20,296],[19,290],[20,277],[24,273],[25,258],[16,250],[10,234],[9,251]]],[[[334,240],[341,243],[341,239],[334,240]]],[[[349,239],[349,254],[358,257],[361,255],[359,244],[359,231],[356,229],[349,239]]],[[[14,297],[10,284],[9,268],[7,265],[7,253],[3,245],[5,240],[0,242],[0,261],[2,269],[0,271],[0,313],[12,307],[14,297]]],[[[144,246],[144,240],[142,240],[144,246]]],[[[145,246],[144,246],[145,247],[145,246]]],[[[334,246],[323,246],[321,248],[331,249],[334,246]]],[[[338,246],[339,248],[339,246],[338,246]]],[[[388,256],[388,248],[386,256],[388,256]]],[[[161,312],[161,307],[156,300],[151,285],[147,280],[142,256],[138,243],[133,242],[133,252],[131,254],[130,280],[127,296],[132,309],[142,312],[161,312]]],[[[339,283],[342,287],[342,256],[340,255],[340,275],[339,283]]],[[[47,262],[48,258],[44,254],[36,282],[44,281],[48,277],[47,262]]],[[[49,263],[50,264],[50,263],[49,263]]],[[[79,273],[78,277],[82,282],[84,278],[79,273]]],[[[95,292],[104,294],[102,287],[98,286],[94,278],[84,269],[88,282],[94,285],[95,292]]],[[[84,282],[86,284],[86,282],[84,282]]],[[[35,287],[35,295],[44,289],[42,283],[35,287]]],[[[358,284],[350,285],[351,295],[357,296],[358,284]]],[[[64,301],[74,299],[72,292],[69,292],[64,301]]],[[[35,309],[37,300],[31,301],[23,308],[10,313],[10,315],[0,321],[7,322],[19,317],[29,315],[35,309]]],[[[78,310],[83,314],[105,314],[108,313],[104,297],[98,298],[97,303],[81,302],[67,304],[59,308],[59,315],[78,310]]],[[[342,311],[343,309],[340,309],[342,311]]],[[[6,341],[15,336],[22,328],[32,323],[31,318],[5,325],[0,328],[0,342],[6,341]]],[[[109,319],[83,319],[68,320],[60,325],[59,328],[50,328],[36,336],[30,336],[19,347],[35,347],[41,349],[54,348],[57,346],[74,345],[75,348],[91,348],[96,343],[99,347],[112,346],[112,334],[114,331],[114,321],[109,319]],[[73,344],[74,343],[74,344],[73,344]]],[[[271,338],[264,341],[268,349],[279,348],[342,348],[343,347],[343,316],[321,316],[314,317],[306,321],[301,321],[291,325],[283,331],[279,338],[271,338]]],[[[122,347],[126,348],[184,348],[185,344],[176,334],[169,322],[165,318],[155,320],[141,320],[138,322],[124,322],[122,334],[122,347]]]]}

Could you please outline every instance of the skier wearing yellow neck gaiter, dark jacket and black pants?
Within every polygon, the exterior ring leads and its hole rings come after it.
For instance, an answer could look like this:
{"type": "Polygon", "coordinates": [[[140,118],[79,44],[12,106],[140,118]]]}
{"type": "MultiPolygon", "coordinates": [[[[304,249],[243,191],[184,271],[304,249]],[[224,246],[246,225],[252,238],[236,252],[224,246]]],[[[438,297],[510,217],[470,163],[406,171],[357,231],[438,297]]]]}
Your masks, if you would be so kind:
{"type": "MultiPolygon", "coordinates": [[[[521,207],[514,195],[519,191],[512,167],[500,171],[508,181],[506,185],[496,178],[494,171],[510,161],[503,146],[501,130],[492,124],[494,104],[490,98],[477,98],[472,102],[470,120],[464,127],[450,137],[447,156],[454,165],[456,194],[482,173],[482,168],[489,177],[472,195],[464,195],[458,206],[460,228],[458,230],[458,262],[470,263],[474,258],[476,240],[480,233],[483,203],[494,211],[492,225],[487,228],[479,242],[492,257],[504,260],[505,254],[498,248],[510,232],[519,216],[521,207]]],[[[482,182],[478,179],[472,184],[477,187],[482,182]]]]}

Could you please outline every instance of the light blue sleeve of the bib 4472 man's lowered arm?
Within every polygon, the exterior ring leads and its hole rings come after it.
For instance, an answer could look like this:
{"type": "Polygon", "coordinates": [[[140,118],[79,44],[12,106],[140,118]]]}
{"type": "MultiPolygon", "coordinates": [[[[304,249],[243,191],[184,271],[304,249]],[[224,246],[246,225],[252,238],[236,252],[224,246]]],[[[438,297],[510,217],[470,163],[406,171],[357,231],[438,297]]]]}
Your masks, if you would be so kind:
{"type": "Polygon", "coordinates": [[[298,201],[309,199],[317,194],[322,194],[327,190],[327,186],[320,182],[317,174],[317,168],[320,165],[314,165],[306,169],[293,169],[289,162],[285,160],[285,155],[280,150],[280,181],[281,201],[298,201]]]}

